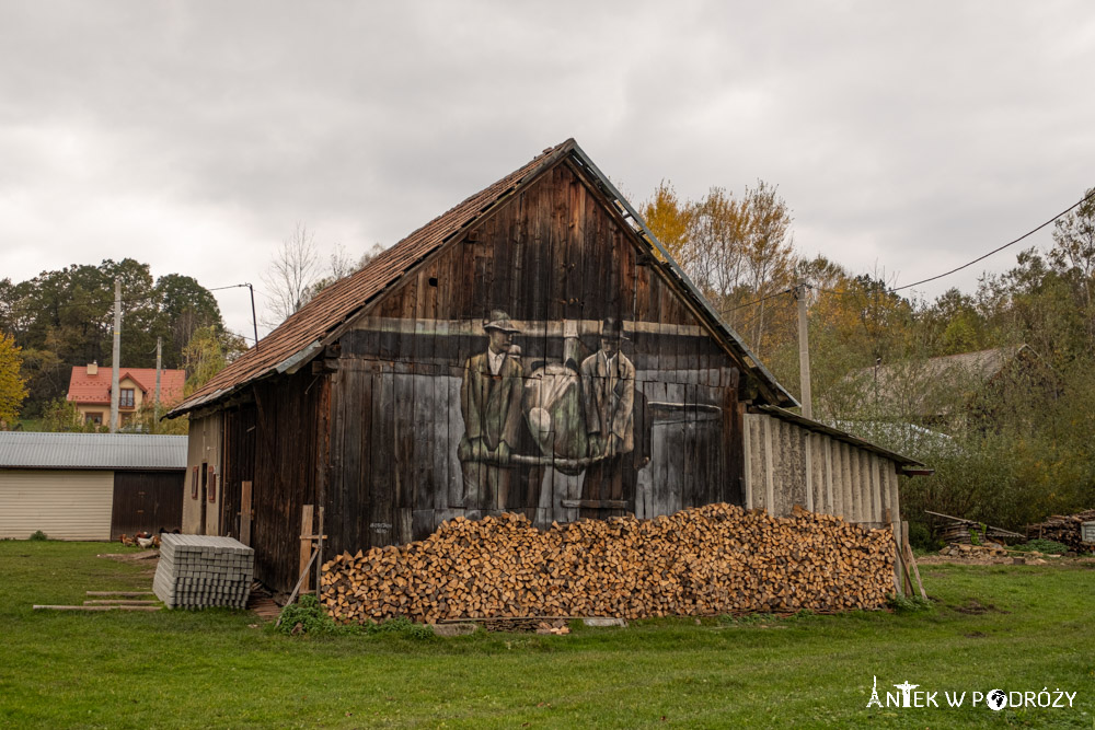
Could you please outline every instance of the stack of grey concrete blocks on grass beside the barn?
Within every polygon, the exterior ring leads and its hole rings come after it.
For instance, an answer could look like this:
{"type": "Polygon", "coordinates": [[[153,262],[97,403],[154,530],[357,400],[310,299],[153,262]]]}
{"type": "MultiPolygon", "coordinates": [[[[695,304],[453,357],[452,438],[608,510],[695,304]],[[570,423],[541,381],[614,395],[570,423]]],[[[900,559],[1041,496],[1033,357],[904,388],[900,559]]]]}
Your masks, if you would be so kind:
{"type": "Polygon", "coordinates": [[[245,609],[255,575],[255,552],[238,540],[212,535],[161,535],[152,590],[169,609],[245,609]]]}

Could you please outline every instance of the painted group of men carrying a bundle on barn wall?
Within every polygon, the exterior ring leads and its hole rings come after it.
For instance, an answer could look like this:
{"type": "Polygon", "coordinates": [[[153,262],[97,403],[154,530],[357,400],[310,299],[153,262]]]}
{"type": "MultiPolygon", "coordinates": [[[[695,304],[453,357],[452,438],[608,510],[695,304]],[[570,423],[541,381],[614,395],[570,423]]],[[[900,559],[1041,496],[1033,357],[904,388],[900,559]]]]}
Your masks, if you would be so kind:
{"type": "MultiPolygon", "coordinates": [[[[619,323],[604,321],[599,349],[585,358],[573,328],[562,362],[525,363],[514,343],[521,331],[502,310],[491,313],[483,331],[487,350],[464,364],[460,391],[464,434],[457,453],[465,506],[535,505],[544,522],[554,515],[554,476],[544,482],[552,468],[577,477],[569,479],[568,491],[580,485],[587,511],[634,512],[636,472],[649,457],[629,459],[635,450],[635,366],[620,351],[626,337],[619,323]],[[525,429],[531,440],[522,438],[525,429]],[[522,445],[532,445],[532,452],[522,452],[522,445]],[[528,476],[519,474],[526,471],[528,476]],[[531,488],[531,499],[511,499],[511,489],[522,484],[531,488]],[[611,507],[595,508],[593,501],[611,507]]],[[[639,434],[641,443],[647,440],[639,434]]],[[[568,494],[566,501],[578,497],[568,494]]]]}

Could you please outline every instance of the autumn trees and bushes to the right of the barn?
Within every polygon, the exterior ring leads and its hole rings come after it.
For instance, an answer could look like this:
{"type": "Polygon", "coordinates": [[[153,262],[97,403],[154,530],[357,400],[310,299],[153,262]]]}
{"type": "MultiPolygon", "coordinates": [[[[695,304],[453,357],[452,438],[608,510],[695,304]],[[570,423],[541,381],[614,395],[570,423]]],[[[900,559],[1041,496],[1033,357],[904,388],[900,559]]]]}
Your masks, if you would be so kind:
{"type": "Polygon", "coordinates": [[[1048,251],[1022,251],[973,292],[953,288],[933,300],[894,291],[877,273],[799,255],[791,209],[763,182],[696,200],[665,182],[642,213],[795,394],[794,289],[808,282],[815,418],[935,467],[902,487],[906,517],[926,534],[924,509],[1018,528],[1095,506],[1093,193],[1056,221],[1048,251]],[[991,375],[972,357],[943,369],[947,361],[934,359],[1019,345],[1033,355],[991,375]]]}

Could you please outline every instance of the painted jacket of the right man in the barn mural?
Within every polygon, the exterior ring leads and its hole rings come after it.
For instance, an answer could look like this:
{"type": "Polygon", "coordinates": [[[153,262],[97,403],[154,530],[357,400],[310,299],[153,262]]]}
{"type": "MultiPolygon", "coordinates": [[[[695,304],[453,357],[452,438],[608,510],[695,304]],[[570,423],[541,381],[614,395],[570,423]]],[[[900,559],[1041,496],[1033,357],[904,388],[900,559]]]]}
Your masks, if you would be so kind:
{"type": "Polygon", "coordinates": [[[581,392],[586,407],[586,430],[602,438],[615,433],[619,453],[635,450],[635,366],[623,352],[616,352],[609,366],[598,350],[581,362],[581,392]]]}

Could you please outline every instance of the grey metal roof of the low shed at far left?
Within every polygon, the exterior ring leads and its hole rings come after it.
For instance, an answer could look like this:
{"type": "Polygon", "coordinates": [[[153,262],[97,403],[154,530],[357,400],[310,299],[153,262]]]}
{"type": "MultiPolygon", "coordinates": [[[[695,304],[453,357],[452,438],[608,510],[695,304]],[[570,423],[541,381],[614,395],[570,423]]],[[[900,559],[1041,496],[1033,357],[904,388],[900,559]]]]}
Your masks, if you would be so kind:
{"type": "Polygon", "coordinates": [[[0,468],[186,468],[185,436],[0,431],[0,468]]]}

